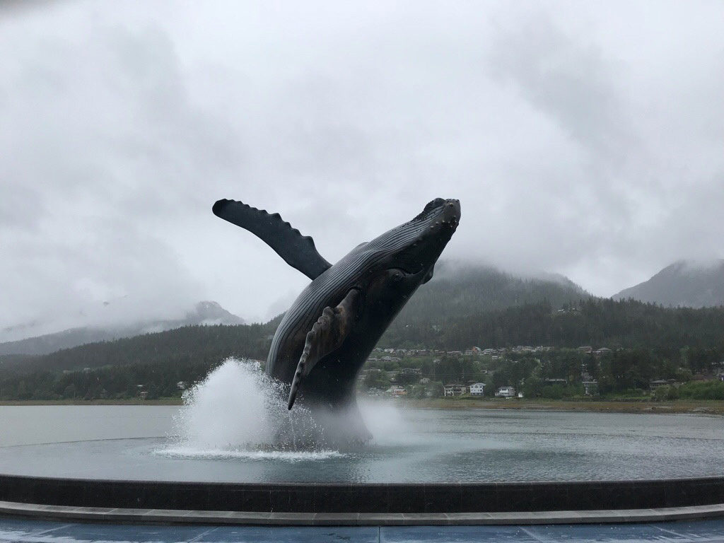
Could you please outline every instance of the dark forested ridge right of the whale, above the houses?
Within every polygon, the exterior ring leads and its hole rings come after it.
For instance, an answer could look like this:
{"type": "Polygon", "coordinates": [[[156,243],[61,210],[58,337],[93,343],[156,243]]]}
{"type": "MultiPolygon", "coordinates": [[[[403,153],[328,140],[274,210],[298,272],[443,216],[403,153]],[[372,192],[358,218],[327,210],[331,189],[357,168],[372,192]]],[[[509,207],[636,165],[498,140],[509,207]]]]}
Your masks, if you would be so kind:
{"type": "Polygon", "coordinates": [[[560,309],[537,303],[427,319],[411,325],[395,322],[380,345],[432,348],[552,345],[645,347],[661,352],[683,347],[723,348],[724,308],[664,308],[634,300],[590,298],[560,309]]]}

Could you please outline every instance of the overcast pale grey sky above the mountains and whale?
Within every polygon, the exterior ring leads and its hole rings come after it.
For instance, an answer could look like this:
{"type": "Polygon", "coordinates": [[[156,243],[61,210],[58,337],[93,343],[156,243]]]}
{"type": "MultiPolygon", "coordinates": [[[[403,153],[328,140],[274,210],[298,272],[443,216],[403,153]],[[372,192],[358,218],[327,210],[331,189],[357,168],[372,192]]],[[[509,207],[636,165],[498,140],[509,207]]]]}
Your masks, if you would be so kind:
{"type": "Polygon", "coordinates": [[[723,21],[721,1],[0,4],[0,329],[283,311],[308,279],[218,198],[332,262],[459,198],[444,257],[605,296],[724,256],[723,21]]]}

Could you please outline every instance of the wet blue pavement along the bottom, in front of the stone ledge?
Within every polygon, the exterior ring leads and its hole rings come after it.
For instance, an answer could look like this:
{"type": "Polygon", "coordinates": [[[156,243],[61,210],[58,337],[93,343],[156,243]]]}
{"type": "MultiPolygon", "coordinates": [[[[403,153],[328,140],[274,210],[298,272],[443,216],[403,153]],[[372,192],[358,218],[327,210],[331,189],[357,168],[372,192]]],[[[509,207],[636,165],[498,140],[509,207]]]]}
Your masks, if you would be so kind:
{"type": "Polygon", "coordinates": [[[0,517],[0,542],[724,542],[724,518],[557,526],[161,526],[0,517]]]}

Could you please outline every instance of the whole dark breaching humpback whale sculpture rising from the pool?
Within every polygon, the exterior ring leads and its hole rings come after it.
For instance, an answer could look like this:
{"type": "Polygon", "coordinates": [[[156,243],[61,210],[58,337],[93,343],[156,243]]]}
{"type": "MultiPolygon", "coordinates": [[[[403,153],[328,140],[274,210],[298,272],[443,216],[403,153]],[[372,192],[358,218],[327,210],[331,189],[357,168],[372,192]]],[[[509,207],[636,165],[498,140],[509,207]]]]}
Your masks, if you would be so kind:
{"type": "Polygon", "coordinates": [[[260,237],[312,279],[279,323],[266,360],[266,374],[288,390],[288,408],[296,401],[311,413],[318,435],[310,438],[307,431],[306,442],[366,442],[371,434],[358,411],[355,378],[392,319],[432,278],[458,227],[460,202],[436,198],[334,266],[279,214],[233,200],[217,201],[212,211],[260,237]]]}

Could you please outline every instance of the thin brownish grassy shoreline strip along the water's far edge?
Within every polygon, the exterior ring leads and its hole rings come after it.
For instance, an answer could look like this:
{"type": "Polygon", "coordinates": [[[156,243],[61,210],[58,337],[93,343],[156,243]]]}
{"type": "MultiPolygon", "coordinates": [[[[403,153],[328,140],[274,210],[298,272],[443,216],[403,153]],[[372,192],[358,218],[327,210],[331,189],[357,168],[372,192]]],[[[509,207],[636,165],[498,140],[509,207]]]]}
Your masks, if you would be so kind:
{"type": "MultiPolygon", "coordinates": [[[[478,398],[435,398],[429,400],[387,400],[400,408],[481,409],[490,411],[578,411],[587,413],[672,413],[724,416],[724,400],[481,400],[478,398]]],[[[30,405],[183,405],[180,397],[140,400],[4,400],[0,406],[30,405]]]]}

